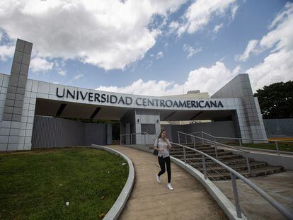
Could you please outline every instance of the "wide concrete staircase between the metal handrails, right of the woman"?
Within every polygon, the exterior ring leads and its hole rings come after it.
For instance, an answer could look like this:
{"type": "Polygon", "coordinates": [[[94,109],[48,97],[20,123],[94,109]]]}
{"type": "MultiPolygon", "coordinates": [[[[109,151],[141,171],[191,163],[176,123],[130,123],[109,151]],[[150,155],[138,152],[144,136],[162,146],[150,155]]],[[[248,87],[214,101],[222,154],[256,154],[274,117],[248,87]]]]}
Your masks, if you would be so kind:
{"type": "MultiPolygon", "coordinates": [[[[193,144],[183,144],[185,146],[190,146],[193,148],[193,144]]],[[[210,145],[200,145],[195,146],[195,149],[198,151],[202,151],[209,156],[216,158],[216,153],[214,146],[210,145]]],[[[203,173],[202,168],[202,156],[195,151],[185,149],[186,154],[186,163],[190,166],[193,166],[197,170],[203,173]]],[[[170,151],[170,155],[184,161],[183,155],[183,147],[176,146],[173,147],[170,151]]],[[[230,168],[236,170],[237,172],[241,173],[241,175],[245,176],[246,178],[255,177],[259,175],[269,175],[272,173],[280,173],[283,170],[282,166],[270,166],[266,162],[255,161],[253,158],[248,158],[249,166],[251,168],[251,172],[248,173],[246,158],[241,155],[233,154],[230,151],[225,151],[224,149],[217,149],[217,158],[222,163],[226,164],[230,168]]],[[[207,169],[207,177],[210,180],[228,180],[231,178],[230,173],[219,166],[217,163],[212,161],[209,158],[205,158],[206,169],[207,169]]]]}

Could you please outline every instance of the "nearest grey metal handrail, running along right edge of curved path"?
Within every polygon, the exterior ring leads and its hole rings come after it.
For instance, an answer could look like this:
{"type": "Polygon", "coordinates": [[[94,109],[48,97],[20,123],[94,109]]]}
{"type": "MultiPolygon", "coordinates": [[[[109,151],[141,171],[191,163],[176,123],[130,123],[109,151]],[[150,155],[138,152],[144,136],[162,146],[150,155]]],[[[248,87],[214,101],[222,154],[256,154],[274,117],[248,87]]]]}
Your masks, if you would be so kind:
{"type": "Polygon", "coordinates": [[[204,169],[205,179],[207,179],[207,171],[205,170],[205,159],[204,159],[205,156],[207,158],[211,159],[212,161],[214,161],[215,163],[219,164],[219,166],[222,166],[223,168],[225,168],[226,170],[228,170],[230,172],[231,180],[232,180],[232,187],[233,187],[233,192],[234,192],[234,201],[235,201],[235,206],[236,206],[236,212],[237,212],[237,216],[239,218],[241,218],[241,209],[239,206],[239,197],[238,197],[238,191],[237,191],[237,186],[236,186],[236,178],[241,179],[244,183],[246,183],[246,185],[250,186],[253,190],[255,190],[255,192],[258,192],[258,194],[260,194],[265,200],[267,200],[273,207],[275,207],[275,209],[277,209],[277,211],[279,211],[287,219],[293,219],[293,214],[291,212],[289,212],[287,209],[285,209],[285,207],[283,207],[275,199],[270,197],[270,195],[268,195],[268,193],[266,193],[265,191],[260,189],[260,187],[258,187],[254,183],[252,183],[251,180],[248,180],[248,178],[245,178],[243,175],[238,173],[236,170],[230,168],[229,166],[226,166],[226,164],[222,163],[221,161],[218,161],[216,158],[213,158],[212,156],[209,156],[208,154],[205,154],[202,151],[199,151],[197,149],[193,149],[189,146],[184,146],[182,144],[177,144],[177,143],[173,143],[173,142],[170,142],[170,143],[174,144],[174,145],[182,146],[183,149],[189,149],[192,151],[196,151],[197,153],[200,153],[202,155],[202,158],[203,158],[202,159],[202,168],[204,169]]]}

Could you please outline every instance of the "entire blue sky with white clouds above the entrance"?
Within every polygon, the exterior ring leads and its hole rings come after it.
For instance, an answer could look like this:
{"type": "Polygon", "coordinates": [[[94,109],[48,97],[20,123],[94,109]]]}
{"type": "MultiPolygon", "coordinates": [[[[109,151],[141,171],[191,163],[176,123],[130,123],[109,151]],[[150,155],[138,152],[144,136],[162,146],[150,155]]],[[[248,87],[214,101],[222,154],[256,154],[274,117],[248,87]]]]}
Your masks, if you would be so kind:
{"type": "Polygon", "coordinates": [[[0,0],[0,72],[16,38],[30,79],[142,95],[253,91],[293,79],[293,3],[281,0],[0,0]]]}

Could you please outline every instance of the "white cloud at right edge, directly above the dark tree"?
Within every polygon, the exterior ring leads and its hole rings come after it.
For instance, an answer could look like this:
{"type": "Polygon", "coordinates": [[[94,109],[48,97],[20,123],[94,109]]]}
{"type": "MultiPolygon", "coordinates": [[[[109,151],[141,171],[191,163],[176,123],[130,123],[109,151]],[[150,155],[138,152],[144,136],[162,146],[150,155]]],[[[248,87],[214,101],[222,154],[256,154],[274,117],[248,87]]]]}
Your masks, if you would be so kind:
{"type": "Polygon", "coordinates": [[[269,25],[268,34],[255,46],[260,51],[270,49],[270,54],[263,62],[246,71],[251,78],[254,91],[270,83],[293,79],[292,27],[293,4],[287,3],[269,25]]]}

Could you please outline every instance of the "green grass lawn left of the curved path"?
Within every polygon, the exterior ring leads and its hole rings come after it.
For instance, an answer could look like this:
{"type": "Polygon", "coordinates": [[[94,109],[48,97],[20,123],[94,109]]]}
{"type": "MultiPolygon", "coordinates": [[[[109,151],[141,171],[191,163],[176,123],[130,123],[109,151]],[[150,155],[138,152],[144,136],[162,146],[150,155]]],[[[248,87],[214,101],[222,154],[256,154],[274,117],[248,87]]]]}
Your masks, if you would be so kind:
{"type": "Polygon", "coordinates": [[[96,149],[2,153],[0,219],[102,219],[127,180],[122,163],[96,149]]]}

